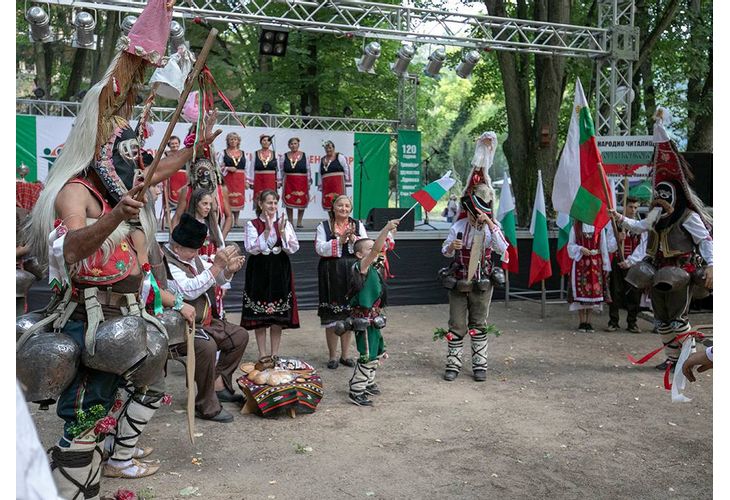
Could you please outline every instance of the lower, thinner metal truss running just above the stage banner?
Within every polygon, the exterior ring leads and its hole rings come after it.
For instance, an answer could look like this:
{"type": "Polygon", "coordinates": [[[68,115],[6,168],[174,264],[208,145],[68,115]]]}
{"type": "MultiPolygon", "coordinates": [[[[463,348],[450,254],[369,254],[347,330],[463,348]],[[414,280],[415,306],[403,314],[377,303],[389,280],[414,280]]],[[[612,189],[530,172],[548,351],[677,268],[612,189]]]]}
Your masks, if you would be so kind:
{"type": "MultiPolygon", "coordinates": [[[[39,101],[35,99],[16,99],[16,112],[23,115],[36,116],[70,116],[75,117],[81,107],[79,102],[39,101]]],[[[142,108],[135,108],[135,116],[139,116],[142,108]]],[[[153,107],[150,120],[169,122],[174,108],[153,107]]],[[[293,128],[334,130],[362,133],[395,134],[398,131],[397,120],[372,120],[368,118],[341,118],[328,116],[296,116],[274,115],[265,113],[234,113],[231,111],[218,112],[218,124],[240,126],[238,117],[247,127],[293,128]]],[[[186,120],[181,116],[180,122],[186,120]]]]}

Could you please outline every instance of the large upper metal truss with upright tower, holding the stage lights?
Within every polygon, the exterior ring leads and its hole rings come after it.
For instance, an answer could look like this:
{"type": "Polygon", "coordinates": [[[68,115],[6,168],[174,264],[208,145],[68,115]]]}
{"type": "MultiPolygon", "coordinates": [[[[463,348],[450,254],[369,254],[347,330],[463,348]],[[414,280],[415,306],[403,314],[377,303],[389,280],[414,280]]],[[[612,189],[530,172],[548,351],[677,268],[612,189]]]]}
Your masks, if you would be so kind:
{"type": "MultiPolygon", "coordinates": [[[[32,0],[38,2],[39,0],[32,0]]],[[[139,13],[146,0],[45,0],[76,8],[139,13]]],[[[599,26],[464,14],[365,0],[180,0],[174,15],[209,22],[256,24],[346,37],[389,39],[478,50],[504,50],[597,60],[597,125],[601,133],[628,134],[631,106],[617,90],[638,56],[634,0],[599,0],[599,26]]],[[[399,96],[408,85],[401,84],[399,96]]],[[[414,93],[415,95],[415,93],[414,93]]],[[[405,104],[405,101],[401,101],[405,104]]],[[[411,105],[411,104],[408,104],[411,105]]],[[[415,106],[415,102],[412,103],[415,106]]],[[[401,115],[405,112],[401,110],[401,115]]]]}

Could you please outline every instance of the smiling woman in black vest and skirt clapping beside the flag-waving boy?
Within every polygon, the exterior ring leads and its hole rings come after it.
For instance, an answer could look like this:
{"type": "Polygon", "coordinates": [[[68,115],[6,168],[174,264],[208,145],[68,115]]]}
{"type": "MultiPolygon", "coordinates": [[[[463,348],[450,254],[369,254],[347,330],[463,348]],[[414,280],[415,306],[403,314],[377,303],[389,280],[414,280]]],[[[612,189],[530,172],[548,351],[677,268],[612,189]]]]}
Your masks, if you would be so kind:
{"type": "Polygon", "coordinates": [[[350,315],[351,307],[347,298],[352,278],[352,265],[355,257],[355,242],[367,238],[368,233],[362,222],[350,217],[352,201],[346,195],[335,198],[329,211],[329,219],[317,226],[314,247],[320,256],[317,267],[319,276],[319,307],[317,315],[325,328],[329,361],[327,368],[334,370],[339,363],[355,366],[348,357],[352,345],[352,332],[340,336],[340,358],[337,361],[337,335],[335,323],[350,315]]]}

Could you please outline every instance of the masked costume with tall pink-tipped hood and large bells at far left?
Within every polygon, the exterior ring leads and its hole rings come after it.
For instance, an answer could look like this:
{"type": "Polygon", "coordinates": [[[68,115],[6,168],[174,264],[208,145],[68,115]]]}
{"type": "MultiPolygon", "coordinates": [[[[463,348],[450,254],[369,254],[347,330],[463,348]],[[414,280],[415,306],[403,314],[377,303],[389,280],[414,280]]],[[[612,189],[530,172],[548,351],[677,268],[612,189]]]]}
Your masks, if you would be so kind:
{"type": "MultiPolygon", "coordinates": [[[[163,55],[171,17],[165,0],[150,0],[129,35],[120,38],[121,50],[82,101],[63,153],[31,216],[31,244],[39,260],[49,263],[49,282],[56,295],[47,308],[47,325],[38,323],[41,331],[20,339],[17,356],[21,359],[24,352],[53,335],[57,340],[32,358],[36,377],[42,378],[49,368],[43,354],[59,342],[68,341],[64,355],[75,359],[65,372],[54,374],[56,383],[62,377],[64,383],[59,383],[60,394],[51,396],[58,397],[58,415],[65,422],[64,435],[51,451],[53,477],[64,498],[99,497],[102,442],[115,425],[114,419],[102,417],[111,409],[120,384],[153,358],[159,360],[148,343],[149,328],[156,328],[163,339],[166,333],[144,311],[144,293],[150,296],[151,278],[149,271],[141,269],[138,255],[149,254],[150,246],[156,245],[151,204],[140,212],[139,226],[123,222],[95,253],[67,266],[67,221],[55,220],[55,201],[67,184],[74,184],[90,193],[103,217],[132,187],[135,170],[142,166],[141,145],[128,120],[145,69],[150,63],[162,66],[166,62],[163,55]],[[147,248],[135,247],[136,231],[144,232],[147,248]],[[43,331],[51,324],[52,331],[43,331]]],[[[94,223],[92,219],[87,222],[94,223]]],[[[151,371],[151,379],[137,380],[134,385],[155,386],[162,373],[151,371]]],[[[152,389],[145,393],[144,403],[152,405],[150,401],[161,397],[161,391],[152,389]]],[[[151,416],[142,413],[144,419],[151,416]]],[[[127,414],[139,415],[135,411],[127,414]]],[[[125,433],[128,422],[122,420],[117,431],[125,433]]],[[[139,468],[149,472],[143,464],[139,468]]]]}

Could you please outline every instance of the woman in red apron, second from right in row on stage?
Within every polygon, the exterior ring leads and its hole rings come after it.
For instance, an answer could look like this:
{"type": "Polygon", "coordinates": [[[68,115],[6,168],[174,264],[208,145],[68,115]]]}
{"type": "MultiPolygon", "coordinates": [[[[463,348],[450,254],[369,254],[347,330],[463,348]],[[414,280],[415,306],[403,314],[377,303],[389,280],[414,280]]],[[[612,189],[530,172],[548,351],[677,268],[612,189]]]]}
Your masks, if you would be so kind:
{"type": "Polygon", "coordinates": [[[297,209],[297,227],[302,226],[304,210],[309,205],[309,186],[312,176],[307,154],[299,151],[299,137],[289,139],[289,152],[279,159],[280,176],[284,187],[282,197],[286,207],[286,216],[292,220],[294,209],[297,209]]]}

